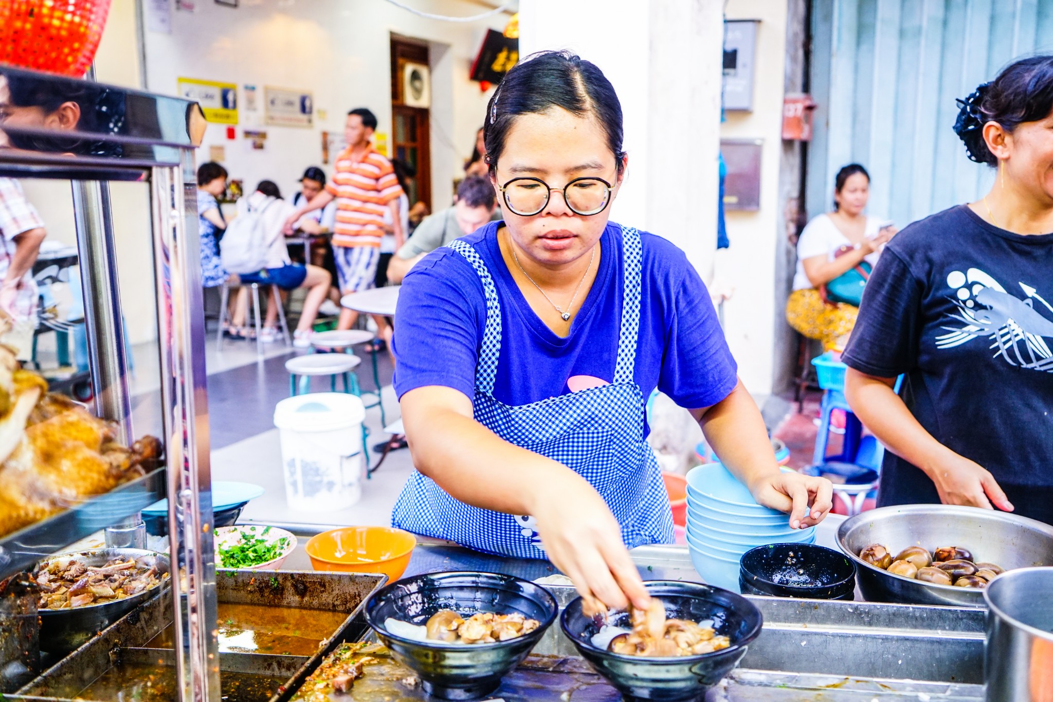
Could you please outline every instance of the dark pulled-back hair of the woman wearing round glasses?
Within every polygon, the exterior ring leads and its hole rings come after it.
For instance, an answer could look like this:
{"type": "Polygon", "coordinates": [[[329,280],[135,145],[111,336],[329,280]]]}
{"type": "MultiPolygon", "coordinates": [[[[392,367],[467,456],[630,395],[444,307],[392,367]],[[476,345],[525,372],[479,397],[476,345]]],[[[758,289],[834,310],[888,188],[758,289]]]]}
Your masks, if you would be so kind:
{"type": "Polygon", "coordinates": [[[621,173],[621,103],[603,72],[568,51],[538,52],[517,63],[498,85],[486,106],[483,143],[491,172],[504,152],[509,131],[520,115],[561,107],[575,117],[593,116],[607,136],[621,173]]]}

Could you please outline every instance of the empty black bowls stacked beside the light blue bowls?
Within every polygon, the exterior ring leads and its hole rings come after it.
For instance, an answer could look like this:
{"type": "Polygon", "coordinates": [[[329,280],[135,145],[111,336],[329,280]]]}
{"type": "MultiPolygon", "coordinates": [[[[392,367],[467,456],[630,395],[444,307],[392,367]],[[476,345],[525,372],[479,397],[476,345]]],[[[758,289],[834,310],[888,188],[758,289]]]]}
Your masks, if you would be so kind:
{"type": "Polygon", "coordinates": [[[851,600],[855,597],[855,564],[826,546],[773,543],[742,554],[738,582],[750,595],[851,600]]]}

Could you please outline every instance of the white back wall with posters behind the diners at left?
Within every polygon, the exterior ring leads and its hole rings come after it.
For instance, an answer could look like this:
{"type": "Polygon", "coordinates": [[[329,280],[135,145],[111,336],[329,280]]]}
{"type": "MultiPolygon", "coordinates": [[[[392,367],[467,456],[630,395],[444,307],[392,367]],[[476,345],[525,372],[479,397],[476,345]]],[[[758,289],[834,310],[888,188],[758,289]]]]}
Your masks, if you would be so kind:
{"type": "MultiPolygon", "coordinates": [[[[142,88],[136,37],[136,0],[113,0],[106,28],[96,55],[100,82],[142,88]]],[[[476,15],[481,7],[465,0],[433,0],[432,13],[476,15]]],[[[314,91],[316,108],[327,118],[314,128],[262,124],[262,112],[241,112],[237,139],[229,141],[223,125],[210,125],[198,162],[208,159],[208,146],[225,148],[224,165],[234,178],[254,186],[263,178],[278,182],[291,196],[303,168],[321,164],[321,132],[342,134],[347,109],[369,106],[380,120],[379,131],[391,143],[390,40],[395,33],[428,41],[432,62],[432,197],[436,206],[453,198],[453,180],[472,154],[486,99],[468,72],[485,28],[503,28],[508,15],[458,24],[416,17],[381,0],[242,0],[231,9],[207,1],[197,12],[173,13],[171,35],[146,35],[147,89],[175,94],[180,76],[258,87],[264,85],[314,91]],[[255,117],[255,119],[254,119],[255,117]],[[243,128],[267,133],[264,151],[250,151],[243,128]]],[[[242,101],[244,95],[241,93],[242,101]]],[[[331,156],[335,156],[332,154],[331,156]]],[[[326,167],[326,171],[329,168],[326,167]]],[[[48,236],[76,244],[67,181],[26,180],[26,194],[43,216],[48,236]]],[[[138,183],[111,185],[121,302],[132,343],[156,338],[156,305],[150,238],[150,200],[138,183]]]]}

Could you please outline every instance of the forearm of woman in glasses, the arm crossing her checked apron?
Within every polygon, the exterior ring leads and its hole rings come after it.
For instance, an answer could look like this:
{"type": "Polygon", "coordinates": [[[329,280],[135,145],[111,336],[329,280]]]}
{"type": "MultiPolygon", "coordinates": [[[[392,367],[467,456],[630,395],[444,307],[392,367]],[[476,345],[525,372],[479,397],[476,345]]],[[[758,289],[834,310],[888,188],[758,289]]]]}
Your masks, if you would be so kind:
{"type": "Polygon", "coordinates": [[[533,514],[540,492],[589,483],[567,466],[511,444],[472,418],[472,402],[449,387],[420,387],[401,400],[414,466],[452,497],[483,509],[533,514]]]}

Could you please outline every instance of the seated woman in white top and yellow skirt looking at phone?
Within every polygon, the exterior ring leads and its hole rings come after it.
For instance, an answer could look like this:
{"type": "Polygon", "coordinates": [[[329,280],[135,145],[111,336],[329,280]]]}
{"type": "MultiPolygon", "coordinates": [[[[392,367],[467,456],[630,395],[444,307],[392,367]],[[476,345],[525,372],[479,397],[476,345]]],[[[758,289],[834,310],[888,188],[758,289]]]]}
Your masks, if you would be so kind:
{"type": "Polygon", "coordinates": [[[877,263],[881,247],[895,235],[892,223],[863,214],[870,174],[858,163],[837,172],[834,210],[812,219],[797,240],[797,272],[787,300],[787,321],[822,341],[823,350],[843,348],[859,308],[829,301],[826,285],[862,262],[877,263]]]}

